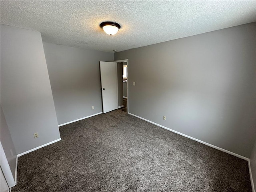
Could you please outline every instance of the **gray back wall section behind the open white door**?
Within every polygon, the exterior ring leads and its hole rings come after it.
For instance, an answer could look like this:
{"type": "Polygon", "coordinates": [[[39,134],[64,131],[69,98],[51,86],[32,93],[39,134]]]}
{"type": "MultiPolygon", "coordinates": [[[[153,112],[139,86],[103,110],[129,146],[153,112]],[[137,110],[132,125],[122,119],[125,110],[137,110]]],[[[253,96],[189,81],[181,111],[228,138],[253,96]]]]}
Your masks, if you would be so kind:
{"type": "Polygon", "coordinates": [[[102,112],[99,61],[113,61],[114,54],[50,43],[44,52],[58,124],[102,112]]]}

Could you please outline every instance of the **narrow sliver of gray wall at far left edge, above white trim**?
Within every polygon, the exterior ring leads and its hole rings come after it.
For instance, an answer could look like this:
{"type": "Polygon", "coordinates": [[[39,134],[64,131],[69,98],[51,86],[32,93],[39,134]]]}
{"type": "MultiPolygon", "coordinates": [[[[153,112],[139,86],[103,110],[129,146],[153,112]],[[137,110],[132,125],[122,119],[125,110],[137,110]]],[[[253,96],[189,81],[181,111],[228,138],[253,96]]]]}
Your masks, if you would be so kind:
{"type": "Polygon", "coordinates": [[[8,164],[11,168],[12,176],[13,176],[13,178],[15,178],[17,154],[16,154],[16,150],[14,148],[14,144],[12,142],[12,137],[11,137],[10,131],[8,129],[8,126],[7,126],[5,117],[4,117],[2,107],[0,108],[0,110],[1,110],[0,111],[0,116],[1,116],[0,140],[1,140],[2,147],[4,149],[4,153],[6,155],[8,164]]]}

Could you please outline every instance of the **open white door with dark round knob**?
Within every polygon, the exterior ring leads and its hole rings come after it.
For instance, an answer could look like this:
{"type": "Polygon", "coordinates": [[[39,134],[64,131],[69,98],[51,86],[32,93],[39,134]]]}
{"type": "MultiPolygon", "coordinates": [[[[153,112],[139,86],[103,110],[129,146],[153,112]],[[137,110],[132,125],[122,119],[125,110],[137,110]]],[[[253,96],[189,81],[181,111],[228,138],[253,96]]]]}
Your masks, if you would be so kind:
{"type": "Polygon", "coordinates": [[[100,61],[103,113],[118,108],[117,63],[100,61]]]}

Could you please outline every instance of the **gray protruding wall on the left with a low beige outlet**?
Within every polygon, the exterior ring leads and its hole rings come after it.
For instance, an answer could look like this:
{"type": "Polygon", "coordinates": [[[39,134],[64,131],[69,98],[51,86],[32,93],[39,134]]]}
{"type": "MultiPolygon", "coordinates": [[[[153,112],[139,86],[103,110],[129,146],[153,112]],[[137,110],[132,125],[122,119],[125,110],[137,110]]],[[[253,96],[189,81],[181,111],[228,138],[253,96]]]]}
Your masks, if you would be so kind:
{"type": "Polygon", "coordinates": [[[1,24],[1,106],[17,154],[60,138],[39,32],[1,24]]]}

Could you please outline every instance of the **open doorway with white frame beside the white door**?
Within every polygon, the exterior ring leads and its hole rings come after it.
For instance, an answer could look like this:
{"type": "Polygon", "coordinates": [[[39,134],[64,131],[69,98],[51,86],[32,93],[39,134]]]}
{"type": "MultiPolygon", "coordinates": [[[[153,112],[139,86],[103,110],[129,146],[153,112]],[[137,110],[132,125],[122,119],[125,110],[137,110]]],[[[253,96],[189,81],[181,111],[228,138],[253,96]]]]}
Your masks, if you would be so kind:
{"type": "Polygon", "coordinates": [[[118,109],[128,113],[128,59],[114,62],[118,64],[118,109]]]}

